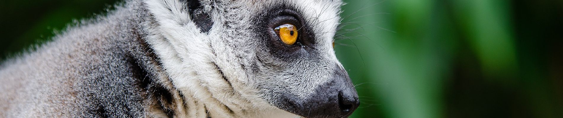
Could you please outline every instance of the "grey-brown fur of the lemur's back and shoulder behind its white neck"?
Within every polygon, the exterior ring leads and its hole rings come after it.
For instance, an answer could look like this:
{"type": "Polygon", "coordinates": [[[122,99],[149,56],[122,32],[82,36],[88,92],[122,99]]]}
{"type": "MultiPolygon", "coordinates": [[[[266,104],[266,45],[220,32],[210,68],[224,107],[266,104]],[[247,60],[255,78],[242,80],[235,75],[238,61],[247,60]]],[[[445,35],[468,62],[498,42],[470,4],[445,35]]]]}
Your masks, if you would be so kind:
{"type": "Polygon", "coordinates": [[[0,117],[146,116],[159,70],[136,30],[141,4],[129,2],[3,62],[0,117]]]}

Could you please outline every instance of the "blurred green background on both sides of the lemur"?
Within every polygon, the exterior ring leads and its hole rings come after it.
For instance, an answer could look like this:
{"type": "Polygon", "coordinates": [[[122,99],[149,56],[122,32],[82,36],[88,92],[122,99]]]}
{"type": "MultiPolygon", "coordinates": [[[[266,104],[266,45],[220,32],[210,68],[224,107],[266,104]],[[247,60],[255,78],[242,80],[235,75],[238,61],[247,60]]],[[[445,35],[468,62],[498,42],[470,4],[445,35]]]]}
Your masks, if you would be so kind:
{"type": "MultiPolygon", "coordinates": [[[[351,117],[563,117],[563,1],[345,0],[351,117]]],[[[0,58],[114,0],[0,2],[0,58]]]]}

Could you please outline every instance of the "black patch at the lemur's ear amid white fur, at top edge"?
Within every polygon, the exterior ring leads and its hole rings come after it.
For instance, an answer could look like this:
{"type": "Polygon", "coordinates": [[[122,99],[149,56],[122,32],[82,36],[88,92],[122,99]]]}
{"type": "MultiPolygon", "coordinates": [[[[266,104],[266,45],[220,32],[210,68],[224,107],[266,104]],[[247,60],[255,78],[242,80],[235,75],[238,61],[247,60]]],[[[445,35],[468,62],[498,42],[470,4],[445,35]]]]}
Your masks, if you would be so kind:
{"type": "Polygon", "coordinates": [[[207,33],[213,26],[211,15],[204,10],[204,6],[198,0],[184,0],[188,12],[190,13],[191,21],[203,32],[207,33]]]}

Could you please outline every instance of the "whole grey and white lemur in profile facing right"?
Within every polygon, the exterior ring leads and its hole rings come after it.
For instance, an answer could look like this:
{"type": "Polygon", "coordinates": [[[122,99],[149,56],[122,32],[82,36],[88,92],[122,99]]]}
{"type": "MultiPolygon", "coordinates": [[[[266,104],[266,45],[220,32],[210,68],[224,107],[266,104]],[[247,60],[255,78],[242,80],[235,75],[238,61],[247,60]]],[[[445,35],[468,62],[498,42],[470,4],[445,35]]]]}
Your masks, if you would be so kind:
{"type": "Polygon", "coordinates": [[[0,117],[348,117],[341,0],[125,0],[0,65],[0,117]]]}

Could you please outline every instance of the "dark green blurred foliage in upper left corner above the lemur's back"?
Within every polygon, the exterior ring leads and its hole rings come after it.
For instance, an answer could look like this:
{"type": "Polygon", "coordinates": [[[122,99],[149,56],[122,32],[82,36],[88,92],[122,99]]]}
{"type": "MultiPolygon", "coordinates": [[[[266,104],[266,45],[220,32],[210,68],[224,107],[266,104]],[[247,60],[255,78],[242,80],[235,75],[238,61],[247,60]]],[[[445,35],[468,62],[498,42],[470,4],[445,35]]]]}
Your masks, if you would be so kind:
{"type": "Polygon", "coordinates": [[[81,20],[105,13],[115,0],[33,1],[3,0],[0,3],[0,60],[33,48],[81,20]]]}

